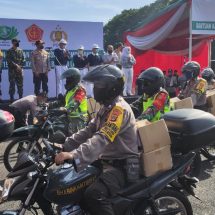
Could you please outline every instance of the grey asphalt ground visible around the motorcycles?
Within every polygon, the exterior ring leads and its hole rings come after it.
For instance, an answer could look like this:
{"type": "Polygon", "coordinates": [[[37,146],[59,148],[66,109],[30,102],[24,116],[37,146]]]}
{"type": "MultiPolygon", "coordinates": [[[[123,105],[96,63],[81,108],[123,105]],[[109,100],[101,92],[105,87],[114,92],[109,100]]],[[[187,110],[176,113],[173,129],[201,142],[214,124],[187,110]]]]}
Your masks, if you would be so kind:
{"type": "MultiPolygon", "coordinates": [[[[0,143],[0,184],[7,175],[4,168],[2,156],[7,143],[0,143]]],[[[204,159],[204,158],[203,158],[204,159]]],[[[202,171],[200,182],[197,185],[196,194],[202,200],[199,201],[190,197],[194,215],[214,215],[215,214],[215,161],[202,161],[202,171]]],[[[9,202],[0,205],[0,211],[5,209],[15,209],[16,202],[9,202]]],[[[28,213],[30,214],[30,213],[28,213]]],[[[41,213],[42,215],[42,213],[41,213]]],[[[188,214],[189,215],[189,214],[188,214]]]]}

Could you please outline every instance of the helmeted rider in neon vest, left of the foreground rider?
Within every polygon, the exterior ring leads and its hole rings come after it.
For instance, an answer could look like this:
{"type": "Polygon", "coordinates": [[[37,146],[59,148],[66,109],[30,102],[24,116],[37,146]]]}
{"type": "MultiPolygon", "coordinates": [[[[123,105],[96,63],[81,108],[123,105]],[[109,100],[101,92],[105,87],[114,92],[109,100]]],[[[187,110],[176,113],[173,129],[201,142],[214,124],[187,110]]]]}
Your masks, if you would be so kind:
{"type": "Polygon", "coordinates": [[[85,127],[88,121],[86,91],[79,84],[81,75],[76,68],[66,70],[61,79],[66,79],[66,95],[61,95],[58,101],[49,103],[49,108],[65,107],[70,122],[68,131],[73,134],[85,127]]]}

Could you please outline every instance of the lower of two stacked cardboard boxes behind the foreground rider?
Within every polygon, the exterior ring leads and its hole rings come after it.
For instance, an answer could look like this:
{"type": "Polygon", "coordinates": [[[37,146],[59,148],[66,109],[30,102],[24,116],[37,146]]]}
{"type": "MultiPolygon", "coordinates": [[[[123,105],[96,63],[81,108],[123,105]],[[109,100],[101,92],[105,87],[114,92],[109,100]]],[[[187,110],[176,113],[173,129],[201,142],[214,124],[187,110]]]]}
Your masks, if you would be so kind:
{"type": "Polygon", "coordinates": [[[171,169],[173,165],[170,145],[148,153],[143,153],[141,158],[143,174],[146,177],[167,171],[171,169]]]}

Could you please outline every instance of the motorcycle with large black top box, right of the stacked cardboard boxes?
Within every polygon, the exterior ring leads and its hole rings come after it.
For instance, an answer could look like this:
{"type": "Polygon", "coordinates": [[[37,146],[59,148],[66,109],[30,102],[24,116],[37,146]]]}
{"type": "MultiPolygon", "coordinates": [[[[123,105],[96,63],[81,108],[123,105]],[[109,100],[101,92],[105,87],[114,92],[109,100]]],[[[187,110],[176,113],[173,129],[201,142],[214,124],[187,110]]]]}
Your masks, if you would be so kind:
{"type": "Polygon", "coordinates": [[[201,154],[211,158],[209,148],[215,145],[215,117],[197,109],[174,110],[163,116],[172,142],[172,155],[184,155],[194,151],[196,156],[190,175],[201,172],[201,154]]]}

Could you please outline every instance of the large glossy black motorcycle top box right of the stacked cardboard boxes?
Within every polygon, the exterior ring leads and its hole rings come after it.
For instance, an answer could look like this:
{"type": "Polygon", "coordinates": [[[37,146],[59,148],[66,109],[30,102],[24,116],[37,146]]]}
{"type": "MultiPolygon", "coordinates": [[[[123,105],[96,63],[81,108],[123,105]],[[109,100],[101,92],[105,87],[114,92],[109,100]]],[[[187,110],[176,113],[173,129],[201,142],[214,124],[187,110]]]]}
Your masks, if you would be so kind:
{"type": "Polygon", "coordinates": [[[163,116],[173,147],[187,151],[215,141],[215,117],[202,110],[179,109],[163,116]]]}

